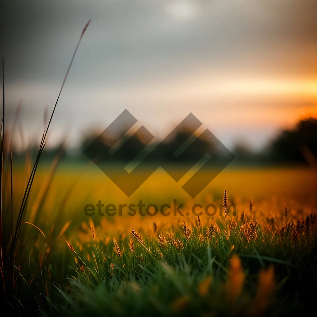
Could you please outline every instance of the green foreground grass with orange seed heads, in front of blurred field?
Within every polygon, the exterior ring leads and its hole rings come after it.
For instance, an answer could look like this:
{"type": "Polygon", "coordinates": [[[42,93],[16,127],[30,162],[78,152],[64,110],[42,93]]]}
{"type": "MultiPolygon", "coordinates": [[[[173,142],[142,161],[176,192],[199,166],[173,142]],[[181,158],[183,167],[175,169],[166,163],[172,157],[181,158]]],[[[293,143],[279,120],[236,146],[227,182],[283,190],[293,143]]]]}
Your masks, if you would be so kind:
{"type": "MultiPolygon", "coordinates": [[[[14,175],[23,183],[23,173],[14,175]]],[[[52,177],[47,170],[46,178],[34,180],[24,221],[33,217],[45,238],[33,226],[21,227],[16,284],[7,297],[15,312],[258,316],[300,313],[312,306],[317,280],[313,198],[294,201],[291,193],[285,206],[285,197],[254,196],[251,208],[250,199],[226,191],[228,204],[236,203],[235,217],[230,212],[199,219],[87,217],[86,183],[78,180],[79,192],[73,187],[75,201],[68,191],[74,183],[66,182],[71,175],[57,169],[52,177]],[[36,190],[46,182],[45,194],[36,190]]],[[[157,177],[161,183],[165,176],[157,177]]],[[[259,172],[259,183],[261,177],[259,172]]],[[[99,186],[96,182],[92,191],[99,186]]],[[[146,197],[147,188],[140,197],[146,197]]],[[[120,199],[104,195],[107,202],[120,199]]],[[[214,196],[209,193],[200,202],[223,203],[220,193],[214,196]]]]}

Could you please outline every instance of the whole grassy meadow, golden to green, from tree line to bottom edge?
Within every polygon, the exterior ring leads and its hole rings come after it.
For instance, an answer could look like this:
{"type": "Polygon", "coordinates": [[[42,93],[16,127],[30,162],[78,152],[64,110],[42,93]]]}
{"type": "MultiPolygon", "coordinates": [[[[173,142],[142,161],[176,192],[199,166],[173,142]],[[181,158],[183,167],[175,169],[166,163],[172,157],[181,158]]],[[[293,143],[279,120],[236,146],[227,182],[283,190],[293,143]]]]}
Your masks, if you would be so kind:
{"type": "MultiPolygon", "coordinates": [[[[5,170],[3,241],[11,239],[29,163],[12,170],[13,218],[5,170]]],[[[258,316],[313,305],[314,169],[228,167],[191,199],[160,168],[126,197],[92,164],[57,163],[40,164],[33,180],[4,307],[45,316],[258,316]],[[176,199],[184,216],[84,212],[100,200],[119,209],[141,199],[158,206],[176,199]],[[219,209],[197,217],[194,204],[219,209]],[[236,215],[224,212],[231,204],[236,215]]]]}

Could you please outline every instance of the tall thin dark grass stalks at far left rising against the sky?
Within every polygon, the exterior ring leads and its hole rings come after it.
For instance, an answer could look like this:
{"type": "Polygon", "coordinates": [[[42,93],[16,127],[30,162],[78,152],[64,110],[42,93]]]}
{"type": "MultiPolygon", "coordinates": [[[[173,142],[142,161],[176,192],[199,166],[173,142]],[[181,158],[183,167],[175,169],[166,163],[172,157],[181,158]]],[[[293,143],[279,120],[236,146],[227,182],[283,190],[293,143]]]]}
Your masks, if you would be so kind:
{"type": "MultiPolygon", "coordinates": [[[[68,73],[69,73],[69,70],[72,66],[77,49],[79,47],[79,44],[80,44],[81,39],[83,37],[83,34],[86,31],[89,23],[90,23],[90,20],[88,21],[85,28],[81,32],[80,39],[77,43],[74,54],[72,56],[72,59],[70,61],[69,66],[68,66],[66,75],[65,75],[63,83],[61,85],[61,90],[60,90],[58,97],[57,97],[57,100],[55,102],[54,109],[53,109],[52,114],[50,116],[47,127],[44,129],[41,143],[40,143],[39,150],[38,150],[38,154],[37,154],[36,160],[34,162],[32,171],[30,173],[28,172],[28,176],[27,176],[28,181],[27,181],[27,184],[26,184],[25,189],[24,189],[24,195],[22,198],[20,208],[18,209],[19,212],[17,213],[17,215],[16,214],[14,215],[14,210],[13,210],[13,171],[12,171],[13,170],[13,162],[12,162],[12,151],[11,151],[11,146],[12,146],[11,141],[12,141],[12,137],[14,136],[15,122],[11,127],[11,133],[9,134],[9,138],[8,138],[8,135],[5,133],[4,58],[2,60],[2,68],[3,68],[3,76],[2,76],[3,77],[2,78],[2,80],[3,80],[3,115],[2,115],[2,121],[1,121],[1,130],[2,131],[1,131],[1,153],[0,153],[0,157],[1,157],[1,159],[0,159],[0,256],[1,256],[0,273],[1,273],[1,280],[2,280],[2,285],[3,285],[3,288],[1,288],[2,292],[3,292],[3,296],[1,296],[1,298],[9,305],[10,305],[10,303],[7,300],[7,296],[8,295],[10,296],[12,290],[14,290],[16,288],[17,279],[15,279],[15,274],[14,274],[15,269],[17,269],[18,274],[21,275],[19,267],[16,266],[18,240],[19,239],[21,240],[21,235],[20,235],[21,224],[27,223],[29,225],[32,225],[33,227],[38,229],[43,234],[43,232],[35,224],[25,222],[25,221],[23,222],[22,219],[23,219],[23,215],[25,213],[26,207],[27,207],[28,198],[29,198],[30,190],[31,190],[31,187],[33,184],[33,180],[34,180],[34,177],[36,175],[36,169],[37,169],[37,166],[39,164],[40,157],[42,155],[42,152],[44,150],[44,147],[45,147],[45,144],[47,141],[46,137],[47,137],[47,133],[49,130],[51,120],[53,118],[59,97],[61,95],[61,91],[62,91],[64,84],[66,82],[66,79],[68,77],[68,73]],[[8,140],[9,140],[9,142],[8,142],[8,140]],[[10,197],[11,197],[11,210],[10,210],[11,215],[10,216],[11,217],[10,218],[11,218],[11,223],[10,223],[10,230],[5,230],[5,228],[8,228],[7,227],[8,222],[5,222],[6,218],[8,217],[8,211],[6,210],[6,199],[5,199],[6,193],[5,193],[5,188],[3,188],[3,185],[6,184],[6,179],[7,179],[6,175],[5,175],[5,171],[4,171],[4,165],[5,165],[5,159],[8,156],[8,153],[10,153],[10,171],[11,171],[11,174],[10,174],[10,182],[11,182],[11,188],[10,188],[10,190],[11,190],[10,191],[10,197]],[[3,212],[3,211],[5,211],[5,212],[3,212]],[[14,217],[15,217],[15,219],[13,219],[14,217]],[[15,220],[15,222],[14,222],[14,220],[15,220]]],[[[20,109],[18,107],[17,113],[19,113],[19,110],[20,109]]],[[[17,116],[15,116],[15,117],[17,118],[17,116]]],[[[44,122],[44,124],[45,124],[45,122],[44,122]]],[[[29,161],[29,163],[30,163],[30,161],[29,161]]],[[[42,199],[41,199],[42,201],[43,201],[43,198],[44,198],[46,192],[47,192],[47,189],[43,191],[43,195],[42,195],[42,199]]],[[[37,209],[38,209],[38,206],[36,206],[35,211],[37,211],[37,209]]],[[[44,234],[43,234],[43,236],[44,236],[44,234]]],[[[24,278],[23,278],[23,280],[25,281],[24,278]]],[[[31,281],[32,280],[33,280],[33,277],[31,279],[31,281]]],[[[19,303],[21,304],[20,301],[19,301],[19,303]]],[[[12,306],[12,305],[10,305],[10,306],[12,306]]]]}

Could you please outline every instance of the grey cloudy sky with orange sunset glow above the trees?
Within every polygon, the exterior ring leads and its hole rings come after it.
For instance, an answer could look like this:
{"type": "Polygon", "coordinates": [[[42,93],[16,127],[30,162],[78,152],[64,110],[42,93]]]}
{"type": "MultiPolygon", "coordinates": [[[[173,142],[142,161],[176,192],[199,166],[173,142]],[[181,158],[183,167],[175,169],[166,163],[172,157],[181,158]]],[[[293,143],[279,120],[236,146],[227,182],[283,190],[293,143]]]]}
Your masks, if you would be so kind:
{"type": "MultiPolygon", "coordinates": [[[[4,0],[7,124],[40,137],[81,31],[48,146],[103,131],[127,109],[157,139],[192,112],[229,149],[261,149],[317,116],[312,0],[4,0]]],[[[19,135],[23,135],[23,138],[19,135]]]]}

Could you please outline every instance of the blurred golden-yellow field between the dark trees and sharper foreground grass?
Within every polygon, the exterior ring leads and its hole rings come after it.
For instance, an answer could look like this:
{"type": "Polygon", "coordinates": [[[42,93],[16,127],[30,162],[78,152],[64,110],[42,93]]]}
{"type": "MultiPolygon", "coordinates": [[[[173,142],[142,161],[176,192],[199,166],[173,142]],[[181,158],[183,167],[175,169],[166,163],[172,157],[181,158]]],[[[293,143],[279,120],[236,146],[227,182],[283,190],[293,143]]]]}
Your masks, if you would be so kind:
{"type": "MultiPolygon", "coordinates": [[[[27,171],[19,169],[14,171],[13,184],[15,193],[21,194],[26,184],[27,171]],[[18,188],[18,189],[17,189],[18,188]]],[[[181,181],[180,181],[181,182],[181,181]]],[[[249,203],[252,199],[252,217],[259,220],[274,218],[278,221],[284,215],[285,204],[289,216],[296,220],[298,217],[316,212],[316,187],[317,171],[311,168],[240,168],[225,169],[197,196],[192,199],[164,170],[159,168],[152,174],[130,197],[126,195],[97,167],[92,165],[78,165],[73,168],[58,167],[53,172],[52,168],[40,167],[37,170],[29,204],[25,214],[25,221],[47,227],[47,221],[54,221],[59,207],[62,209],[60,219],[63,224],[72,223],[74,227],[87,227],[83,223],[93,220],[96,227],[102,231],[126,232],[131,226],[135,228],[152,228],[155,222],[160,227],[164,224],[172,225],[182,223],[192,215],[185,216],[187,210],[191,211],[194,204],[215,204],[218,208],[222,203],[223,191],[228,192],[229,204],[236,205],[237,217],[242,212],[248,215],[249,203]],[[139,213],[134,217],[127,215],[127,208],[123,209],[122,217],[118,213],[113,217],[101,217],[97,210],[94,216],[87,217],[84,213],[86,204],[96,205],[99,200],[102,204],[114,204],[118,210],[119,204],[184,204],[184,217],[163,217],[158,213],[153,217],[141,217],[139,213]]],[[[8,193],[9,194],[9,193],[8,193]]],[[[9,198],[9,197],[8,197],[9,198]]],[[[18,201],[16,201],[18,207],[18,201]]],[[[104,207],[103,207],[104,210],[104,207]]],[[[199,212],[199,211],[198,211],[199,212]]],[[[215,216],[217,218],[217,216],[215,216]]],[[[203,222],[213,221],[215,217],[202,215],[203,222]]],[[[86,229],[87,229],[86,228],[86,229]]],[[[33,230],[29,228],[29,230],[33,230]]],[[[88,230],[89,231],[89,230],[88,230]]],[[[74,231],[72,231],[74,234],[74,231]]],[[[82,233],[80,234],[82,236],[82,233]]]]}

